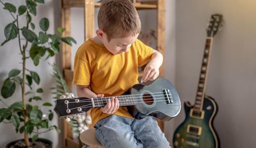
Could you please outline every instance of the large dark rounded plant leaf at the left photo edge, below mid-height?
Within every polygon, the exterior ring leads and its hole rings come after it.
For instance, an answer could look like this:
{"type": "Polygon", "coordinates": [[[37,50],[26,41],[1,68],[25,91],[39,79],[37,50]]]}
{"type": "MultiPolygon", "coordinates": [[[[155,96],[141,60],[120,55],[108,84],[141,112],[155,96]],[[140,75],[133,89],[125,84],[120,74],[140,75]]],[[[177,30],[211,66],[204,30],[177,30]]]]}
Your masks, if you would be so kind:
{"type": "Polygon", "coordinates": [[[13,95],[14,91],[16,88],[16,84],[14,82],[6,82],[4,83],[4,85],[1,88],[1,95],[2,97],[4,97],[5,99],[8,97],[11,97],[11,95],[13,95]]]}

